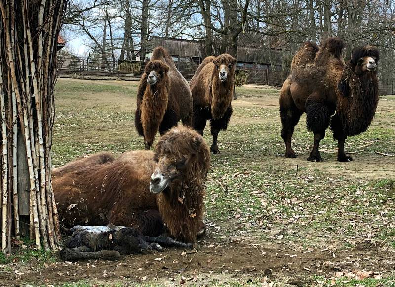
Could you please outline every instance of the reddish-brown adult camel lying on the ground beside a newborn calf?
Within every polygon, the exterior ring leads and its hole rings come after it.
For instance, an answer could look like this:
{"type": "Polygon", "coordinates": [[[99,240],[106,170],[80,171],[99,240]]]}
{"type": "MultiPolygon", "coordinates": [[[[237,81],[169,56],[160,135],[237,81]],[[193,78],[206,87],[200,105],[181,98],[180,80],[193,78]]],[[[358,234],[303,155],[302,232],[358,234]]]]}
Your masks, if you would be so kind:
{"type": "Polygon", "coordinates": [[[210,151],[201,135],[178,126],[164,134],[155,152],[106,152],[53,170],[61,223],[136,228],[145,236],[167,232],[194,242],[204,229],[204,182],[210,151]],[[165,228],[166,227],[166,228],[165,228]]]}

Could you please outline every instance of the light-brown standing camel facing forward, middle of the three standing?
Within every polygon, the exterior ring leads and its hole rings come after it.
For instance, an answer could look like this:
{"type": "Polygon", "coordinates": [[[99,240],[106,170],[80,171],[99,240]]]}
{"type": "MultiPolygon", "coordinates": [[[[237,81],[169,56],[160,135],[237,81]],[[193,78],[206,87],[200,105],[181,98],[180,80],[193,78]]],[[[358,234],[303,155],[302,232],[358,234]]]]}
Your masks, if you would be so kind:
{"type": "Polygon", "coordinates": [[[236,59],[229,54],[209,56],[197,68],[189,85],[193,98],[193,127],[203,135],[207,120],[210,121],[213,143],[210,151],[219,153],[217,138],[226,130],[231,119],[235,87],[236,59]]]}

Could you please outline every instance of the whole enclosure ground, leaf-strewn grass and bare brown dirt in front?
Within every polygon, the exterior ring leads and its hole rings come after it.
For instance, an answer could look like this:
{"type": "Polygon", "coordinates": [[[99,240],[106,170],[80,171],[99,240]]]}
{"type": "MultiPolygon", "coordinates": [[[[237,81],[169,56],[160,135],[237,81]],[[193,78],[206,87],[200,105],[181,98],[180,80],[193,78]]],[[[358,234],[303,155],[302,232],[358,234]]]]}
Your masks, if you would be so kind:
{"type": "MultiPolygon", "coordinates": [[[[81,84],[88,85],[60,80],[54,163],[102,149],[142,148],[132,115],[115,119],[126,123],[128,135],[117,130],[108,139],[103,135],[117,123],[106,122],[108,112],[106,121],[95,118],[103,110],[114,109],[117,116],[133,111],[135,95],[130,99],[129,93],[136,84],[90,81],[112,88],[80,91],[81,84]],[[97,123],[97,143],[92,135],[86,143],[89,134],[82,129],[79,140],[66,137],[78,131],[71,124],[77,111],[70,107],[79,105],[91,110],[80,116],[97,123]]],[[[337,162],[336,143],[328,135],[321,145],[325,161],[311,163],[306,158],[312,136],[304,118],[293,141],[300,157],[282,155],[278,90],[246,86],[237,92],[230,127],[220,134],[221,154],[212,158],[208,233],[197,250],[172,248],[119,261],[15,260],[0,265],[0,286],[395,286],[395,97],[383,97],[369,131],[349,139],[346,149],[355,161],[337,162]]],[[[208,131],[205,137],[211,141],[208,131]]]]}

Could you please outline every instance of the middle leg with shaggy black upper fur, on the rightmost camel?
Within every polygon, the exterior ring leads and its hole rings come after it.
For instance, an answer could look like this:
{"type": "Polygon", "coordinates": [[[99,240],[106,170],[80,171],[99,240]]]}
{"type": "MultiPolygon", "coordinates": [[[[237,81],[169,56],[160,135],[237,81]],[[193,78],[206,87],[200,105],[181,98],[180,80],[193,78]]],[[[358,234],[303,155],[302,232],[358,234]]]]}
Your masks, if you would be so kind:
{"type": "Polygon", "coordinates": [[[314,145],[307,158],[309,161],[323,161],[319,153],[319,142],[325,137],[325,130],[329,126],[331,115],[334,112],[333,107],[326,103],[316,100],[319,98],[317,93],[313,93],[306,101],[306,123],[307,129],[314,133],[314,145]]]}

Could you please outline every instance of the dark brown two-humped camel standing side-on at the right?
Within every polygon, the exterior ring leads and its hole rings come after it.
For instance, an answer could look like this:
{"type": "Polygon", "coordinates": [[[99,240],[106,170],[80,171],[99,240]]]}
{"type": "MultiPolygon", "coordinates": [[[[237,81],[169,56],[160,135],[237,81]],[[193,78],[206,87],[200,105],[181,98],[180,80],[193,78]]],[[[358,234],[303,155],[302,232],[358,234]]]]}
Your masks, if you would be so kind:
{"type": "MultiPolygon", "coordinates": [[[[316,52],[314,61],[301,61],[285,80],[280,92],[285,157],[296,157],[291,138],[300,116],[306,112],[307,128],[314,133],[308,160],[322,161],[319,142],[325,137],[329,125],[333,138],[338,141],[337,160],[353,160],[346,155],[344,142],[348,136],[366,131],[373,120],[379,99],[376,74],[380,53],[372,46],[359,47],[345,63],[344,47],[343,40],[328,38],[316,52]]],[[[298,52],[299,59],[303,58],[300,55],[303,53],[302,48],[298,52]]],[[[312,59],[311,54],[304,59],[312,59]]]]}

